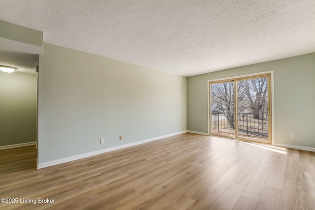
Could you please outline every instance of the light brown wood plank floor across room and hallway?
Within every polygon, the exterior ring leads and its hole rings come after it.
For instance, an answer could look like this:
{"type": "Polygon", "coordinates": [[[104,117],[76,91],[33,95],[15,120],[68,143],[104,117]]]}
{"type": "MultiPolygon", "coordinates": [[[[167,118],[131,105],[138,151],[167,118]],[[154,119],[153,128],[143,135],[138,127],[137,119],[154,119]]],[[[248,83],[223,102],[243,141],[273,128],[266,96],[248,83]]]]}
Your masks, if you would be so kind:
{"type": "Polygon", "coordinates": [[[314,210],[315,152],[285,152],[187,133],[36,170],[35,146],[0,150],[0,197],[36,200],[0,209],[314,210]]]}

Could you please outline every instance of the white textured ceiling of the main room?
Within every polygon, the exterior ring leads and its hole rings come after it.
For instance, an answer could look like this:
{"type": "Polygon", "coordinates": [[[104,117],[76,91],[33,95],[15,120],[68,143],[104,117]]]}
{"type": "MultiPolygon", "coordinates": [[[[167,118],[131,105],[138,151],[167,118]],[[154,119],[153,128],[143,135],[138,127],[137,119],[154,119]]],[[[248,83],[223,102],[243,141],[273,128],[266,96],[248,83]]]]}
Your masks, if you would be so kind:
{"type": "Polygon", "coordinates": [[[179,75],[315,52],[315,0],[0,0],[44,42],[179,75]]]}

